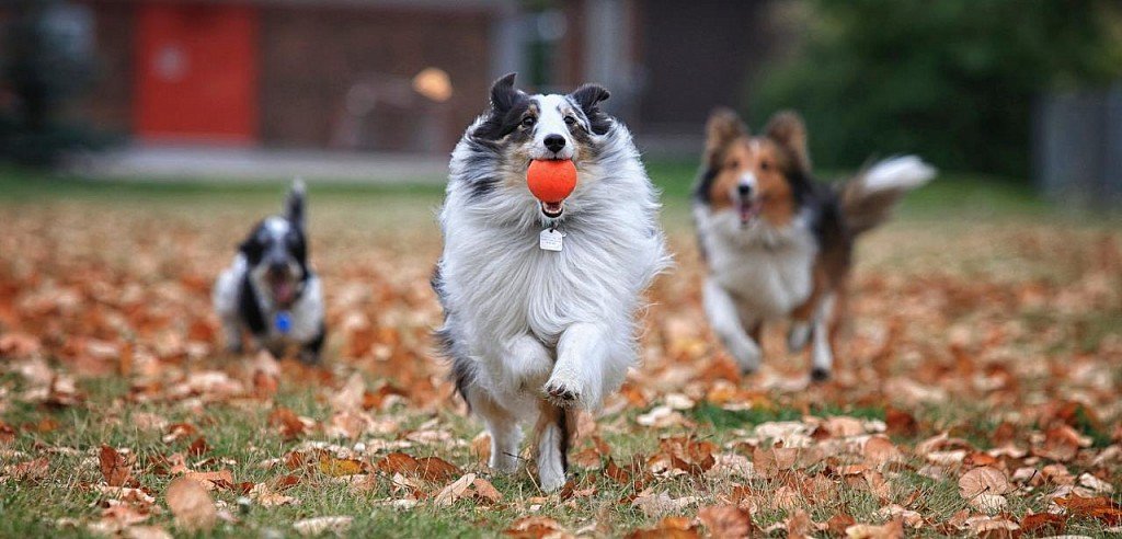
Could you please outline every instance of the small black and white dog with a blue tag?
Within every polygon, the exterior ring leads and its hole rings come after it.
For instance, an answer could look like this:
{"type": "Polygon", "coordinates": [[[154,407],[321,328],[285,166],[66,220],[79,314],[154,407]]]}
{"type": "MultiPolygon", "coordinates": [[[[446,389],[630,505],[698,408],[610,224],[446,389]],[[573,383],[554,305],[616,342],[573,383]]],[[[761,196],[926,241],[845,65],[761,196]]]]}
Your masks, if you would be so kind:
{"type": "Polygon", "coordinates": [[[284,216],[261,220],[241,243],[214,284],[213,300],[229,351],[242,351],[242,332],[249,330],[257,348],[278,358],[298,346],[301,360],[320,359],[323,295],[307,265],[303,182],[293,182],[284,216]]]}

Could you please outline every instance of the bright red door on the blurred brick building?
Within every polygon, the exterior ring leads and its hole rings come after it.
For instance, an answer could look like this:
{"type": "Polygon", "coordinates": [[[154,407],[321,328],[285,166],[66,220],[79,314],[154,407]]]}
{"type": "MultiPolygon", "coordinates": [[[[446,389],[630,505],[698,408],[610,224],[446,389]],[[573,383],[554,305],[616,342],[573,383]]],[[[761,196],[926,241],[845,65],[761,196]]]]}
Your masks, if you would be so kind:
{"type": "Polygon", "coordinates": [[[248,144],[257,138],[257,10],[139,7],[134,121],[146,139],[248,144]]]}

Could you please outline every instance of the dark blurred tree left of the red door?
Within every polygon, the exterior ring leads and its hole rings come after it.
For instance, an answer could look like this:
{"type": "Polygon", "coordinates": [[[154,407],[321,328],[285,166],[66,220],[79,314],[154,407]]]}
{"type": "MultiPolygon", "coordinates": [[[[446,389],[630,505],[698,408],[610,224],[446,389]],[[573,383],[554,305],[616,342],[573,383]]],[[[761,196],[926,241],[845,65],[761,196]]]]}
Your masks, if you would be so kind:
{"type": "Polygon", "coordinates": [[[88,8],[61,0],[16,0],[0,36],[0,156],[49,164],[88,146],[90,131],[63,120],[68,100],[93,74],[93,21],[88,8]]]}

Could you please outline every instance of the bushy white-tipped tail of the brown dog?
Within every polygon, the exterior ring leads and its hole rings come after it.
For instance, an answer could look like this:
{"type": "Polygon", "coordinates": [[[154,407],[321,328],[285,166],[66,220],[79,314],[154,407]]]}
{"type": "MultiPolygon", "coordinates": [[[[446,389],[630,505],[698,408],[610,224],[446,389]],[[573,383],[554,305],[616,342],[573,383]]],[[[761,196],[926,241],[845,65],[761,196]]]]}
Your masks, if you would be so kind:
{"type": "Polygon", "coordinates": [[[935,173],[923,159],[904,155],[874,163],[845,182],[839,194],[849,230],[858,235],[888,220],[896,202],[931,181],[935,173]]]}

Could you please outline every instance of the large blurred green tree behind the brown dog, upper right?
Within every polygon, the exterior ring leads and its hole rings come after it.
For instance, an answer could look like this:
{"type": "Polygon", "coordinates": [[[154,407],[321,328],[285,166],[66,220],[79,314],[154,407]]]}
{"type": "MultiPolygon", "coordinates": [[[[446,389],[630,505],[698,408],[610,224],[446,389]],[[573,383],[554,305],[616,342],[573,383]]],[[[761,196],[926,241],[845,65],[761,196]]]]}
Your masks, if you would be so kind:
{"type": "Polygon", "coordinates": [[[762,119],[800,110],[812,156],[853,167],[917,152],[1027,177],[1040,92],[1122,76],[1114,0],[808,0],[801,49],[765,70],[762,119]]]}

